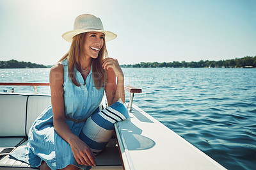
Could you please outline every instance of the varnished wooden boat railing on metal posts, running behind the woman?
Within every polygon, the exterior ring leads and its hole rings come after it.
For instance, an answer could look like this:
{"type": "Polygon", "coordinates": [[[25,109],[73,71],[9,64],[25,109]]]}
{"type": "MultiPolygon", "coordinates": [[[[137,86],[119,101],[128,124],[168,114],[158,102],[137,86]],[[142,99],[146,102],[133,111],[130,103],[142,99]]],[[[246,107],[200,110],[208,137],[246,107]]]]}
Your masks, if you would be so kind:
{"type": "MultiPolygon", "coordinates": [[[[38,86],[49,86],[49,82],[0,82],[0,86],[33,86],[35,93],[38,93],[38,86]]],[[[134,88],[132,86],[124,85],[125,91],[130,93],[129,107],[128,111],[132,110],[132,101],[134,98],[134,93],[141,93],[140,88],[134,88]]]]}

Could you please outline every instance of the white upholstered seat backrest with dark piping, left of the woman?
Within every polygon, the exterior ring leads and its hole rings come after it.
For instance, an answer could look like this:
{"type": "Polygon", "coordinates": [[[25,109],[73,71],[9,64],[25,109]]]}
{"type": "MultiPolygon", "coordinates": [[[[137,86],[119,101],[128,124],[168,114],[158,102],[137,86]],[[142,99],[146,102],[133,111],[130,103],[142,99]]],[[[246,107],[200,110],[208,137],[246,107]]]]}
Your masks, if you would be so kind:
{"type": "Polygon", "coordinates": [[[51,105],[49,95],[0,93],[0,137],[28,136],[35,119],[51,105]]]}

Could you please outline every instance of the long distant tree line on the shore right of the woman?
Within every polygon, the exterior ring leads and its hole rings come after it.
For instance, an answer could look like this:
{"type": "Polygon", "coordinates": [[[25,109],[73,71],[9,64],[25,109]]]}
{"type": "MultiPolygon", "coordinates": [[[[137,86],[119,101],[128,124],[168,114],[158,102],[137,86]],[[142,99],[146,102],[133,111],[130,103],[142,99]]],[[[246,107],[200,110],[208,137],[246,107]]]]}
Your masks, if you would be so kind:
{"type": "Polygon", "coordinates": [[[244,58],[236,58],[236,59],[227,59],[220,61],[209,61],[209,60],[200,60],[198,62],[186,62],[186,61],[173,61],[173,62],[153,62],[153,63],[145,63],[141,62],[140,64],[134,65],[121,65],[122,67],[138,67],[138,68],[156,68],[156,67],[174,67],[174,68],[204,68],[204,67],[212,67],[212,68],[256,68],[256,56],[250,57],[246,56],[244,58]]]}

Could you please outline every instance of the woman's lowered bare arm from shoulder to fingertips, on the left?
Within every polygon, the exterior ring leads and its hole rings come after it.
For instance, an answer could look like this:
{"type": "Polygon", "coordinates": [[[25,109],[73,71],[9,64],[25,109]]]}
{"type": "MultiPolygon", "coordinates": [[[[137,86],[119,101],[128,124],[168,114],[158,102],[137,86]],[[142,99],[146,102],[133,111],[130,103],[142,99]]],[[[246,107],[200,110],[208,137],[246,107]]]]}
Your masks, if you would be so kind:
{"type": "Polygon", "coordinates": [[[64,105],[64,69],[57,64],[50,71],[50,88],[54,130],[70,144],[72,153],[78,164],[95,166],[95,157],[90,148],[79,137],[73,134],[65,120],[64,105]]]}

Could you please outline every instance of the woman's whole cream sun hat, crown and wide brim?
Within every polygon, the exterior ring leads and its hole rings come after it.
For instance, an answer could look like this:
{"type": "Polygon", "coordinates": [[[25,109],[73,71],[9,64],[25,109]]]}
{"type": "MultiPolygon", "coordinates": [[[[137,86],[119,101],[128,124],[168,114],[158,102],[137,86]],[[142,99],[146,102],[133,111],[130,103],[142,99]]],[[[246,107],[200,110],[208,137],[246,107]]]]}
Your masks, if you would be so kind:
{"type": "Polygon", "coordinates": [[[76,17],[74,22],[74,30],[64,33],[62,37],[67,42],[72,42],[72,39],[74,36],[79,35],[81,33],[87,33],[87,32],[93,32],[93,31],[104,33],[106,42],[115,39],[117,36],[116,34],[110,31],[104,30],[103,24],[100,18],[90,14],[82,14],[76,17]]]}

